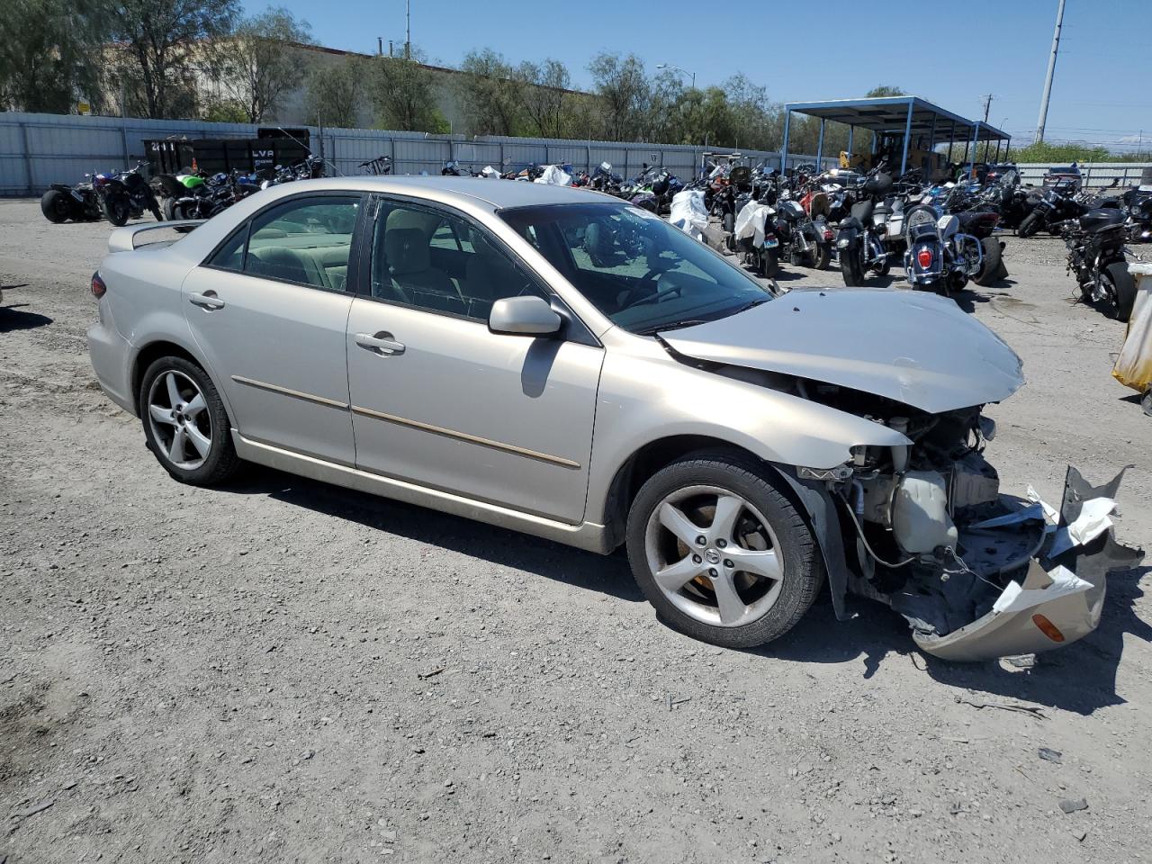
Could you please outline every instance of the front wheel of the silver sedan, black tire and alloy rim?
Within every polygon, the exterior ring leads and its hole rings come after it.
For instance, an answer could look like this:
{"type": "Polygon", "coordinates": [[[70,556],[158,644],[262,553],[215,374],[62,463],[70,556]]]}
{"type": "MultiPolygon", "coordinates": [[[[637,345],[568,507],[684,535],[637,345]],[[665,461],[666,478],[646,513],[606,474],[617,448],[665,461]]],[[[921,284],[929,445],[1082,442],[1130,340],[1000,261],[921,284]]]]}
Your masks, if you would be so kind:
{"type": "Polygon", "coordinates": [[[628,515],[641,590],[677,630],[723,647],[782,636],[824,578],[811,530],[752,458],[691,454],[653,475],[628,515]]]}

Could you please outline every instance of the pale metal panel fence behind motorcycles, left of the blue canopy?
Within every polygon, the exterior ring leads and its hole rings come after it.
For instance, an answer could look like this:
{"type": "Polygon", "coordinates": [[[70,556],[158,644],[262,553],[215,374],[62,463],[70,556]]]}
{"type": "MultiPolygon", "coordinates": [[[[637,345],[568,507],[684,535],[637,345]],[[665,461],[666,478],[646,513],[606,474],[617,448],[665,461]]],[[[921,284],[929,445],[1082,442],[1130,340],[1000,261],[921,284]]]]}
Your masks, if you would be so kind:
{"type": "MultiPolygon", "coordinates": [[[[253,138],[250,123],[205,123],[184,120],[94,118],[70,114],[0,112],[0,196],[39,195],[51,183],[74,183],[84,174],[130,166],[145,159],[144,141],[152,138],[253,138]]],[[[309,127],[312,150],[328,162],[329,173],[363,174],[362,162],[388,156],[396,174],[438,174],[447,161],[479,170],[529,164],[570,162],[592,170],[600,162],[630,177],[644,164],[666,167],[681,180],[699,170],[704,147],[676,144],[506,138],[497,136],[425,135],[381,129],[318,129],[309,127]]],[[[751,165],[780,167],[779,152],[740,151],[751,165]]],[[[788,156],[789,165],[814,162],[816,157],[788,156]]],[[[836,164],[825,158],[826,166],[836,164]]]]}

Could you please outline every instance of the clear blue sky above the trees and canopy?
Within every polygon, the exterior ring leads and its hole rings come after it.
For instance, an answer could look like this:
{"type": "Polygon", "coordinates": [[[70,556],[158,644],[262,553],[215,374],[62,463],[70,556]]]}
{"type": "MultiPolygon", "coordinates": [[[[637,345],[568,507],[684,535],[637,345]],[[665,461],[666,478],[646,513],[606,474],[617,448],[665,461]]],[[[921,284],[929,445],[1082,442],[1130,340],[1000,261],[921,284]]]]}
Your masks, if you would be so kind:
{"type": "MultiPolygon", "coordinates": [[[[267,5],[243,1],[249,12],[267,5]]],[[[385,50],[388,39],[403,44],[404,0],[273,2],[306,20],[328,47],[373,52],[378,36],[385,50]]],[[[992,93],[990,122],[1031,141],[1056,3],[896,0],[869,7],[823,0],[714,3],[714,12],[702,12],[710,7],[699,0],[411,0],[411,26],[412,43],[432,62],[456,66],[482,47],[517,62],[551,56],[568,66],[579,88],[591,83],[589,59],[605,50],[632,52],[650,70],[660,62],[690,69],[698,86],[743,71],[774,101],[852,98],[893,84],[975,118],[992,93]],[[935,8],[940,23],[932,26],[935,8]],[[917,28],[922,37],[911,36],[917,28]],[[851,40],[838,40],[838,32],[850,32],[851,40]]],[[[1048,141],[1116,147],[1135,144],[1142,130],[1145,143],[1152,139],[1150,32],[1152,0],[1067,0],[1048,141]]]]}

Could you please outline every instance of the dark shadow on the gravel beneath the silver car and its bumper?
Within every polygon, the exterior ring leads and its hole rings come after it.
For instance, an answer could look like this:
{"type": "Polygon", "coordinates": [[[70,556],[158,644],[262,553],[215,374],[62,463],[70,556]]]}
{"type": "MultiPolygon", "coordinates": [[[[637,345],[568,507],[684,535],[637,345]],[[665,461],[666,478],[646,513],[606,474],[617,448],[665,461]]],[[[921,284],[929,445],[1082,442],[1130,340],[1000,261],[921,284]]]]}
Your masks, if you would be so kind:
{"type": "MultiPolygon", "coordinates": [[[[252,469],[229,491],[268,495],[620,600],[644,600],[620,552],[596,555],[272,469],[252,469]]],[[[904,619],[878,602],[861,600],[855,604],[859,613],[856,617],[836,621],[827,590],[793,630],[748,653],[802,664],[847,664],[863,655],[865,679],[872,677],[889,654],[907,657],[925,675],[948,687],[1092,714],[1097,708],[1124,703],[1116,694],[1116,668],[1126,635],[1152,642],[1152,626],[1136,614],[1136,604],[1144,596],[1139,579],[1147,573],[1152,568],[1111,576],[1099,629],[1068,647],[1038,654],[1034,660],[1025,658],[1021,667],[1008,661],[955,664],[926,657],[912,642],[904,619]]]]}

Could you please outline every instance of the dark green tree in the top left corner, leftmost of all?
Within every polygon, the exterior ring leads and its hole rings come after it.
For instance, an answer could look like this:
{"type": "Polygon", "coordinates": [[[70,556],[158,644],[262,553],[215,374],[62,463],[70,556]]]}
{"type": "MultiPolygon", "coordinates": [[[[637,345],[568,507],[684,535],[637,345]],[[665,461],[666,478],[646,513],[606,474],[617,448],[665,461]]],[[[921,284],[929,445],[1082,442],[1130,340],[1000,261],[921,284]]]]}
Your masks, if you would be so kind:
{"type": "Polygon", "coordinates": [[[67,114],[81,96],[98,103],[99,76],[92,59],[106,22],[97,0],[6,0],[0,109],[67,114]]]}

